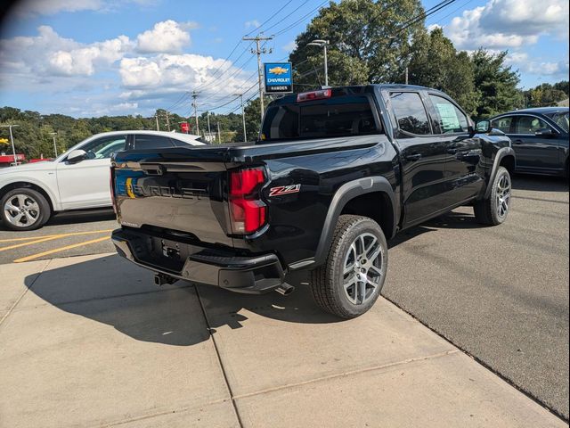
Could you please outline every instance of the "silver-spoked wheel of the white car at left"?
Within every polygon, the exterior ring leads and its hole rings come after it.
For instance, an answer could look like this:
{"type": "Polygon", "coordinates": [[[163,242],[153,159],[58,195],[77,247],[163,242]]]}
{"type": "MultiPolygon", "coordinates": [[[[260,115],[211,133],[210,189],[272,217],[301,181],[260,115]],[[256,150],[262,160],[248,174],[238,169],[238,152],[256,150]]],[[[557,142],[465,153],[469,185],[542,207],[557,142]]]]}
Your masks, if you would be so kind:
{"type": "Polygon", "coordinates": [[[4,194],[0,210],[4,226],[11,230],[38,229],[45,225],[52,214],[45,196],[27,187],[12,189],[4,194]]]}

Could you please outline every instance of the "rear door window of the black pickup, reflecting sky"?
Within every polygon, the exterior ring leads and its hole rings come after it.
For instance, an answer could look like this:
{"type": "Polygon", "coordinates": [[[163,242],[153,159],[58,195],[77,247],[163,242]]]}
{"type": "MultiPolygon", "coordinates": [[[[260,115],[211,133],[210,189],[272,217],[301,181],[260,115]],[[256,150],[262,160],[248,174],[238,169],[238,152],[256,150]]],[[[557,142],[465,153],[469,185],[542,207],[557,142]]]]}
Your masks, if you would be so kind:
{"type": "Polygon", "coordinates": [[[392,92],[390,102],[395,112],[398,128],[419,136],[425,136],[431,132],[428,113],[417,92],[392,92]]]}

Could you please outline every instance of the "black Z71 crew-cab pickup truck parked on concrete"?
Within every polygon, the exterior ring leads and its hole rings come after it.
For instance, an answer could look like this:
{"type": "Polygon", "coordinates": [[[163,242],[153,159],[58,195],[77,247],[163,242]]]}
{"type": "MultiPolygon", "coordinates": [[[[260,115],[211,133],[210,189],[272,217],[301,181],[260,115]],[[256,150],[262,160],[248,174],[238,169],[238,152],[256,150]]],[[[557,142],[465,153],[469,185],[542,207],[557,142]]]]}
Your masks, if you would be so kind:
{"type": "Polygon", "coordinates": [[[514,167],[507,136],[433,89],[287,95],[255,143],[117,153],[112,240],[156,284],[288,294],[309,269],[322,309],[357,317],[386,280],[387,239],[460,205],[502,223],[514,167]]]}

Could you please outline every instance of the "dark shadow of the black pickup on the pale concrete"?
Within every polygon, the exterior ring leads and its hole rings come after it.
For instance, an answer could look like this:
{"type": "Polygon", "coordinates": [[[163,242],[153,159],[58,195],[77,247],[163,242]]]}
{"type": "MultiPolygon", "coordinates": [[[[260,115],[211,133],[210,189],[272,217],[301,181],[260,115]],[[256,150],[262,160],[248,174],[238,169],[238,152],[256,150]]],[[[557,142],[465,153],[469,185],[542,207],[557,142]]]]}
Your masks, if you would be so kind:
{"type": "MultiPolygon", "coordinates": [[[[301,282],[304,277],[297,275],[292,281],[301,282]]],[[[175,346],[207,341],[210,332],[224,326],[243,328],[250,313],[294,323],[341,321],[314,304],[306,284],[294,284],[296,292],[287,297],[277,292],[239,294],[183,281],[159,288],[150,271],[118,255],[48,268],[40,276],[27,276],[25,284],[28,292],[43,300],[32,299],[37,307],[45,301],[69,314],[110,325],[137,341],[175,346]]]]}

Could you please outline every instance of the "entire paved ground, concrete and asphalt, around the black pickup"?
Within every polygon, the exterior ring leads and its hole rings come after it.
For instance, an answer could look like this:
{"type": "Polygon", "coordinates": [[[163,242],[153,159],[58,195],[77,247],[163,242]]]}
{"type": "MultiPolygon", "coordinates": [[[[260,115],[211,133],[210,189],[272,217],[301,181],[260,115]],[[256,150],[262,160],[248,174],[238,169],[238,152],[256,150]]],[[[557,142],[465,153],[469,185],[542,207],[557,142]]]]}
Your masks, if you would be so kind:
{"type": "Polygon", "coordinates": [[[392,426],[437,426],[442,417],[557,424],[492,373],[567,419],[568,187],[541,177],[513,184],[502,226],[480,227],[461,208],[397,237],[387,300],[348,322],[321,314],[302,284],[287,298],[181,283],[156,289],[150,273],[118,256],[54,259],[110,251],[103,231],[116,227],[112,213],[2,231],[2,277],[21,281],[0,286],[0,416],[12,422],[5,426],[34,426],[45,415],[44,426],[298,426],[327,415],[339,426],[396,416],[392,426]],[[83,235],[30,243],[70,233],[83,235]],[[19,243],[28,245],[6,249],[19,243]],[[20,259],[29,262],[12,263],[20,259]],[[490,370],[469,358],[474,366],[450,363],[467,357],[397,307],[490,370]],[[304,399],[331,391],[320,407],[304,399]],[[376,407],[362,408],[359,397],[376,407]]]}

